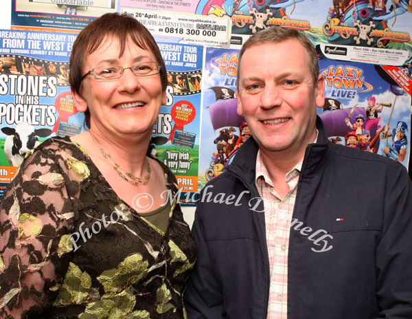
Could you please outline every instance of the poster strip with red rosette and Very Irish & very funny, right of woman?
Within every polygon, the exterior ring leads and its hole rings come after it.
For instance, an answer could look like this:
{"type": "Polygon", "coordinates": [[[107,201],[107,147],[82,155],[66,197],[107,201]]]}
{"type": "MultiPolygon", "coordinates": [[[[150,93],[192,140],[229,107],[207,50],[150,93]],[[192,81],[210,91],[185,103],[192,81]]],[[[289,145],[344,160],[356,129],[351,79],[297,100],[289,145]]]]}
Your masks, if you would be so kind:
{"type": "Polygon", "coordinates": [[[203,91],[203,47],[158,43],[168,70],[167,102],[153,128],[152,144],[169,166],[181,190],[182,205],[194,205],[198,190],[198,160],[203,91]]]}

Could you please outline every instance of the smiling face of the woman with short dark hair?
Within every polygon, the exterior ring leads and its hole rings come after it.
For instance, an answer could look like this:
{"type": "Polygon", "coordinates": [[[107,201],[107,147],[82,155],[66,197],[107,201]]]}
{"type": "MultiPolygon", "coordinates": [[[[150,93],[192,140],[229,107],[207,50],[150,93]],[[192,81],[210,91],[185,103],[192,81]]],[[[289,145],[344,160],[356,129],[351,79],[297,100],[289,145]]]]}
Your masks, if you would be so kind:
{"type": "MultiPolygon", "coordinates": [[[[119,57],[119,41],[106,38],[102,46],[87,56],[83,74],[94,67],[131,67],[144,57],[156,62],[155,55],[143,50],[128,39],[123,56],[119,57]]],[[[91,129],[106,136],[125,137],[127,134],[151,135],[166,95],[160,75],[138,77],[125,69],[120,78],[99,80],[92,74],[82,82],[82,98],[76,96],[79,111],[90,111],[91,129]]]]}

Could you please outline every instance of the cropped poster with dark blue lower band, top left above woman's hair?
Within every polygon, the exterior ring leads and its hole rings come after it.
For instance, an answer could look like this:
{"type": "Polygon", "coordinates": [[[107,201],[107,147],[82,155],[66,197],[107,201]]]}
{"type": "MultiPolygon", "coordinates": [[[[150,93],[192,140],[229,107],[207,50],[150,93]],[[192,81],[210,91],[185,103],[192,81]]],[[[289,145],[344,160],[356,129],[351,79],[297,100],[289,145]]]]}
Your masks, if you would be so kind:
{"type": "Polygon", "coordinates": [[[78,33],[116,11],[117,0],[12,0],[12,29],[78,33]]]}

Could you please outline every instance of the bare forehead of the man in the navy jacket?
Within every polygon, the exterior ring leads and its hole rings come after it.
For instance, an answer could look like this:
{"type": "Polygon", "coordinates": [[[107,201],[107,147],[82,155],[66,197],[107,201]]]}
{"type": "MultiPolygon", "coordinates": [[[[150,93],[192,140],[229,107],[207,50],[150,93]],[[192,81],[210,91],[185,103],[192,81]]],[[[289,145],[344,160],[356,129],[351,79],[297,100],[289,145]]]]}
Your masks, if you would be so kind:
{"type": "Polygon", "coordinates": [[[244,51],[240,64],[240,76],[247,75],[255,67],[264,67],[268,72],[310,72],[309,54],[296,39],[277,43],[253,45],[244,51]],[[267,67],[268,66],[268,67],[267,67]],[[248,70],[248,72],[244,72],[248,70]]]}

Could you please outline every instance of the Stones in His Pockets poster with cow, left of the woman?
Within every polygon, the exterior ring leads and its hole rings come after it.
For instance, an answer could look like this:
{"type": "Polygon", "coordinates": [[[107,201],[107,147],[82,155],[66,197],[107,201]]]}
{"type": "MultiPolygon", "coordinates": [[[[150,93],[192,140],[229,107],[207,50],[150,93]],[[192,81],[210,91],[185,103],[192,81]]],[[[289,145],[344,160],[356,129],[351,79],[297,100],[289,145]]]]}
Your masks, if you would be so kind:
{"type": "Polygon", "coordinates": [[[25,154],[84,130],[69,87],[73,34],[0,30],[0,198],[25,154]]]}

